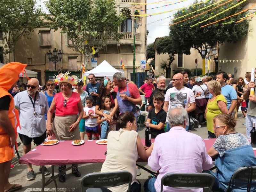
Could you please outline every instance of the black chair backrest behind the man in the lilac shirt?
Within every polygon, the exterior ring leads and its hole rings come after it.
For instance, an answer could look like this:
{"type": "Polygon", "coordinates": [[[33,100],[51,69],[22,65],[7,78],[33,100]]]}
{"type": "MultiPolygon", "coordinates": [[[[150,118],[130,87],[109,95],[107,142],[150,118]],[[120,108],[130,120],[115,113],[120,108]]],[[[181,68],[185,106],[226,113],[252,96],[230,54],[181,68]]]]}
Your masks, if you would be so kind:
{"type": "Polygon", "coordinates": [[[164,186],[180,189],[209,187],[212,190],[214,177],[209,173],[167,173],[161,180],[161,192],[164,186]]]}

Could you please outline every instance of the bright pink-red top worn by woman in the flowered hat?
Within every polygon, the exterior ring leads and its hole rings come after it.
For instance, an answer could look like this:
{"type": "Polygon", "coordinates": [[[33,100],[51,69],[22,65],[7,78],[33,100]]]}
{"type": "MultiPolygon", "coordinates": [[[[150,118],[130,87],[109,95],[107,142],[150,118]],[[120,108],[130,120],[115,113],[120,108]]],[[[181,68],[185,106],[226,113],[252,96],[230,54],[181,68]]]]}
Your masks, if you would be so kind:
{"type": "Polygon", "coordinates": [[[78,111],[78,103],[81,101],[79,93],[72,92],[71,97],[68,99],[66,107],[63,106],[64,97],[62,93],[57,93],[54,95],[54,102],[56,105],[56,113],[57,116],[66,116],[66,115],[77,115],[78,111]]]}

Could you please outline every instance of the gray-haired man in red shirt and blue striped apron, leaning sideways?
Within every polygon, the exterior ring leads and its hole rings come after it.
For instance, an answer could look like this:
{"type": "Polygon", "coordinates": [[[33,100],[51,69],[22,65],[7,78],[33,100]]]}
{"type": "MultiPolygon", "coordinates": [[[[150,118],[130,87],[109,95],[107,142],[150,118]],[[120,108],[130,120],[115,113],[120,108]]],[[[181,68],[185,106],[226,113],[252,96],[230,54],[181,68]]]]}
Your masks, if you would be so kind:
{"type": "Polygon", "coordinates": [[[137,118],[136,105],[141,105],[141,97],[138,87],[133,83],[126,83],[125,76],[121,72],[113,75],[113,82],[116,85],[114,91],[118,102],[120,113],[130,111],[137,118]]]}

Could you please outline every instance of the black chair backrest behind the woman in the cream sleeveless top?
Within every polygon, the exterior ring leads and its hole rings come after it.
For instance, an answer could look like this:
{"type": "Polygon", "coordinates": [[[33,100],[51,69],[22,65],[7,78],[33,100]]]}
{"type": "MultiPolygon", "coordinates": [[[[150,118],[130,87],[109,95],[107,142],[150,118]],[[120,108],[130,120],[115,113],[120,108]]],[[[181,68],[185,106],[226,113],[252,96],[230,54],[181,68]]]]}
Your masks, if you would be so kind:
{"type": "Polygon", "coordinates": [[[126,183],[129,184],[128,192],[130,192],[132,174],[128,171],[89,173],[81,180],[82,192],[84,188],[109,188],[126,183]]]}

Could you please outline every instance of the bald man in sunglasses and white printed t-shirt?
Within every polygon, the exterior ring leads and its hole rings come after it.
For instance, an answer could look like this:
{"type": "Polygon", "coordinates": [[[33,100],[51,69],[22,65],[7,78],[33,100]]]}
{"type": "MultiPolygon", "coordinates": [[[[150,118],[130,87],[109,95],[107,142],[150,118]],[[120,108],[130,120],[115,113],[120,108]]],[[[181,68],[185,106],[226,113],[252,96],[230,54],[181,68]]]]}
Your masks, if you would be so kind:
{"type": "MultiPolygon", "coordinates": [[[[168,89],[165,93],[163,109],[167,113],[167,116],[168,116],[169,109],[176,108],[177,106],[184,107],[188,113],[191,111],[194,111],[196,108],[194,93],[191,89],[183,86],[183,81],[184,81],[184,76],[181,73],[175,74],[172,78],[173,87],[168,89]]],[[[188,127],[189,127],[189,119],[187,116],[186,131],[188,131],[188,127]]],[[[171,129],[167,118],[166,118],[166,128],[167,128],[167,131],[171,129]]]]}

